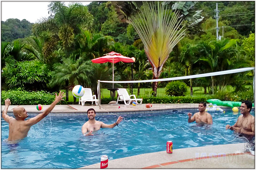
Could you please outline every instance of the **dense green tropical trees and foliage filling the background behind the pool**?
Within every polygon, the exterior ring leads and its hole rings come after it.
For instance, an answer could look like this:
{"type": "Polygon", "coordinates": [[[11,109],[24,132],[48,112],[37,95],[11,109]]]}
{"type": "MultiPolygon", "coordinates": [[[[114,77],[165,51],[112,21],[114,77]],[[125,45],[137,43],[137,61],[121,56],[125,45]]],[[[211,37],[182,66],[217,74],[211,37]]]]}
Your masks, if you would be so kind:
{"type": "MultiPolygon", "coordinates": [[[[52,1],[48,5],[50,17],[37,23],[26,19],[2,21],[2,90],[65,89],[69,101],[69,91],[81,84],[98,96],[97,81],[112,79],[112,63],[94,64],[90,60],[111,51],[136,59],[133,64],[115,63],[115,80],[255,67],[255,2],[218,2],[221,40],[216,40],[215,7],[214,1],[93,1],[88,6],[79,2],[65,6],[64,2],[52,1]]],[[[152,88],[154,91],[150,89],[143,98],[149,103],[197,102],[203,100],[194,99],[198,87],[207,97],[240,101],[252,100],[253,77],[252,70],[187,79],[179,83],[190,86],[186,95],[191,97],[184,98],[150,97],[160,94],[157,87],[170,90],[168,82],[115,86],[129,88],[130,92],[136,88],[138,96],[146,94],[142,88],[152,88]],[[227,86],[233,92],[227,93],[227,86]]],[[[101,89],[111,86],[101,84],[101,89]]]]}

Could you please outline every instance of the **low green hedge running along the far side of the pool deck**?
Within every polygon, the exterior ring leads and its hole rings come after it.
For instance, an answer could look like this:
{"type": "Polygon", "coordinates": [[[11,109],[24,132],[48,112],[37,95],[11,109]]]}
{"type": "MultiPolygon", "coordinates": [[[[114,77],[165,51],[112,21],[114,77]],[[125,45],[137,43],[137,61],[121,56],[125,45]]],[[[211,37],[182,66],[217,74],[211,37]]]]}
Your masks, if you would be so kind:
{"type": "MultiPolygon", "coordinates": [[[[253,91],[237,92],[236,94],[229,94],[228,100],[230,101],[243,101],[251,100],[254,102],[253,91]]],[[[25,91],[25,90],[8,90],[4,93],[1,93],[1,104],[5,104],[5,99],[10,98],[12,105],[49,105],[55,99],[55,93],[49,93],[45,91],[25,91]]],[[[191,96],[159,96],[159,97],[142,97],[143,103],[199,103],[201,101],[206,101],[208,99],[219,99],[224,101],[226,98],[220,94],[215,94],[214,96],[200,96],[200,97],[191,97],[191,96]]],[[[116,101],[117,98],[114,98],[116,101]]],[[[102,98],[101,104],[108,104],[112,101],[112,97],[102,98]]],[[[123,102],[119,102],[123,103],[123,102]]],[[[58,104],[68,104],[66,101],[60,101],[58,104]]],[[[72,104],[72,102],[70,103],[72,104]]]]}

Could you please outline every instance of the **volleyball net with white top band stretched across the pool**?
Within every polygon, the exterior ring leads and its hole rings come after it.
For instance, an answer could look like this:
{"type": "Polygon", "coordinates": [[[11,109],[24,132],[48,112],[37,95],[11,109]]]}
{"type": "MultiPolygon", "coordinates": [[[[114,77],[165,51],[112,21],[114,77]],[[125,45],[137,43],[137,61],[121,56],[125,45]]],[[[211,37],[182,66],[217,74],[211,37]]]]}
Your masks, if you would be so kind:
{"type": "MultiPolygon", "coordinates": [[[[123,115],[128,124],[144,124],[156,131],[183,131],[226,142],[249,142],[244,136],[226,131],[226,125],[235,124],[241,101],[249,100],[254,105],[254,72],[255,68],[249,67],[153,80],[98,80],[99,107],[110,115],[123,115]],[[153,82],[158,82],[156,93],[153,82]],[[197,113],[201,101],[207,103],[206,111],[213,121],[207,127],[188,123],[188,113],[197,113]]],[[[251,115],[255,116],[254,106],[251,115]]],[[[246,126],[251,126],[247,121],[246,126]]]]}

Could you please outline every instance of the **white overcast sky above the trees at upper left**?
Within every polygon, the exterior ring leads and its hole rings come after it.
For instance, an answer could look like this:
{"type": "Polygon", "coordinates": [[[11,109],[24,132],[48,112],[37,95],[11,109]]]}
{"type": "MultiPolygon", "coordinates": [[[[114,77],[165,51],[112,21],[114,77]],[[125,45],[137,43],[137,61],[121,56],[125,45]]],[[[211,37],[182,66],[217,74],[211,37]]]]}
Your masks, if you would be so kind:
{"type": "MultiPolygon", "coordinates": [[[[48,17],[48,7],[50,1],[1,1],[1,21],[9,18],[26,19],[35,23],[42,17],[48,17]]],[[[91,1],[79,1],[83,5],[88,5],[91,1]]],[[[70,1],[65,1],[67,6],[70,1]]]]}

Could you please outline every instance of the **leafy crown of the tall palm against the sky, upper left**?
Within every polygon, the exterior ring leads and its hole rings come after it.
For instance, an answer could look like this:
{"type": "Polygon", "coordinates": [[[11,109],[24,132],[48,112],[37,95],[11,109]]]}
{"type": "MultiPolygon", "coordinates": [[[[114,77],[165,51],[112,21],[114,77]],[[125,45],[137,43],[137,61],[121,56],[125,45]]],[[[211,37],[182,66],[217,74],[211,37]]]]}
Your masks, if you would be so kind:
{"type": "Polygon", "coordinates": [[[45,31],[53,34],[49,43],[45,44],[47,46],[45,48],[48,50],[54,49],[57,45],[56,42],[60,41],[62,48],[69,51],[74,47],[75,36],[80,33],[80,30],[92,27],[93,16],[87,6],[80,3],[72,2],[66,7],[64,2],[51,1],[48,10],[52,17],[42,18],[32,27],[32,32],[36,36],[45,31]]]}

